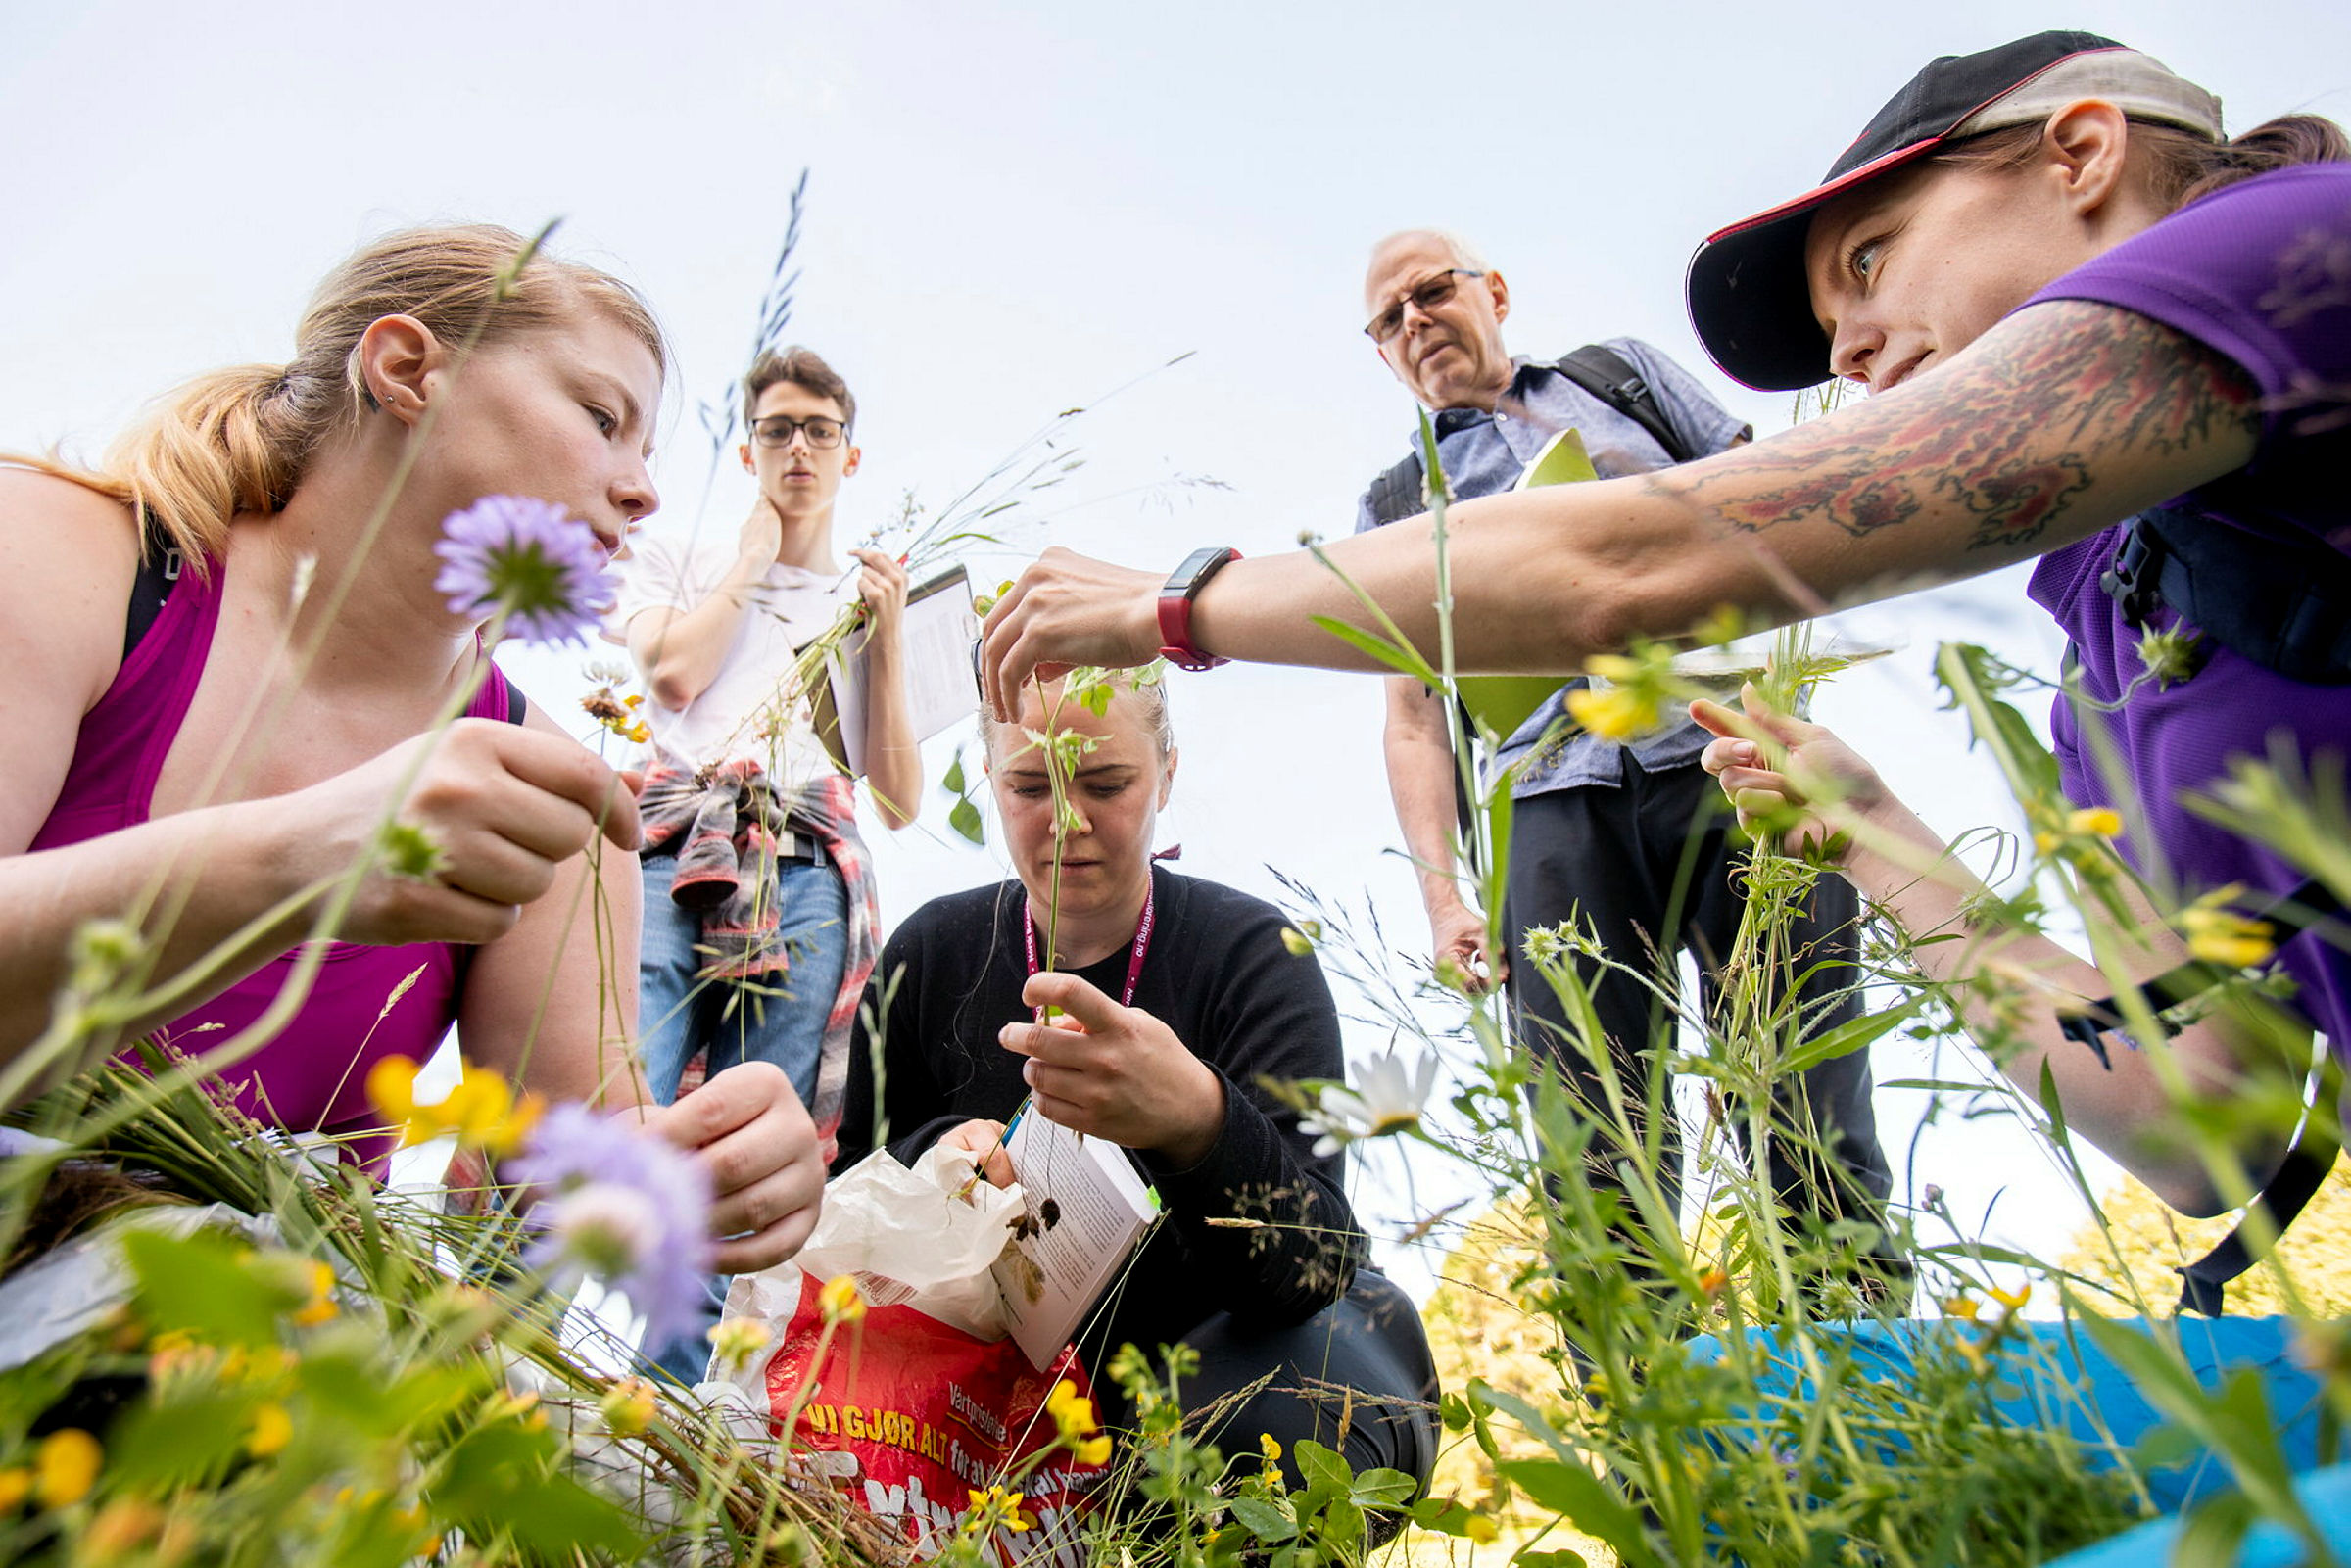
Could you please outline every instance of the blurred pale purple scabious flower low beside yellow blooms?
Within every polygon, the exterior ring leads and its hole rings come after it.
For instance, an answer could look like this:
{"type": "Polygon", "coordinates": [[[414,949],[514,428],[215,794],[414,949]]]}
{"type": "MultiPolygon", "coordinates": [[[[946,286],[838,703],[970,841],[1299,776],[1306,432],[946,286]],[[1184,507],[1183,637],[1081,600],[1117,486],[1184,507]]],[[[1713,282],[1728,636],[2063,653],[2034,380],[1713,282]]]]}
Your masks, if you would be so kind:
{"type": "Polygon", "coordinates": [[[557,1105],[505,1173],[543,1190],[524,1265],[595,1274],[644,1314],[647,1345],[694,1321],[715,1262],[701,1161],[621,1117],[557,1105]]]}

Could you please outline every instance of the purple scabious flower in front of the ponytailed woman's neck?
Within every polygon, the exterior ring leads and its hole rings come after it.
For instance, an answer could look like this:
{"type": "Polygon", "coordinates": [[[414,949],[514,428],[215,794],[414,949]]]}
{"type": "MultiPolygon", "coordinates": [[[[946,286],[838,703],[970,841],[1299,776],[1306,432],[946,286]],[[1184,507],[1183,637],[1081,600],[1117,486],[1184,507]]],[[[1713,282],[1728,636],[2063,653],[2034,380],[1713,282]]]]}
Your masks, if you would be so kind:
{"type": "Polygon", "coordinates": [[[482,496],[442,520],[433,590],[458,616],[503,614],[524,642],[585,644],[614,602],[595,529],[531,496],[482,496]]]}

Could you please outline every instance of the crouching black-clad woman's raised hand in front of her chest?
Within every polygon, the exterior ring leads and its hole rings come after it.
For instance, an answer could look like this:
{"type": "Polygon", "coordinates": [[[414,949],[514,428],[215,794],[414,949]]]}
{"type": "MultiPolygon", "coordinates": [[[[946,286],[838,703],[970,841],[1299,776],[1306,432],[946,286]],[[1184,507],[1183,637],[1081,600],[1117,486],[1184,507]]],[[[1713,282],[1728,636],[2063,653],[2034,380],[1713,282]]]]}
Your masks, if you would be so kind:
{"type": "Polygon", "coordinates": [[[1034,1110],[1049,1121],[1150,1150],[1176,1168],[1197,1166],[1225,1133],[1225,1081],[1192,1056],[1176,1030],[1136,1006],[1119,1006],[1077,976],[1030,976],[1030,1006],[1053,1006],[1053,1023],[1009,1023],[1006,1051],[1027,1060],[1034,1110]]]}

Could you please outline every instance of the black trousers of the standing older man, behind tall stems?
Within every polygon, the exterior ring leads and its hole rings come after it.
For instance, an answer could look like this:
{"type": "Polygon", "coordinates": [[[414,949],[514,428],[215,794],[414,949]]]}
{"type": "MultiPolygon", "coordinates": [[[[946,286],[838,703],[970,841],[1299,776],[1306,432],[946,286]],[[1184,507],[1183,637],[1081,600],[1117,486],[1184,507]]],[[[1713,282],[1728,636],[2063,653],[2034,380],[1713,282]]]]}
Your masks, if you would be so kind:
{"type": "MultiPolygon", "coordinates": [[[[1505,929],[1512,936],[1509,999],[1519,1020],[1519,1039],[1563,1074],[1585,1105],[1603,1105],[1599,1074],[1568,1034],[1559,994],[1526,959],[1523,936],[1531,926],[1556,926],[1570,917],[1594,929],[1601,952],[1636,971],[1657,971],[1672,985],[1679,973],[1674,954],[1697,957],[1702,1004],[1709,1016],[1719,1006],[1716,971],[1730,954],[1744,898],[1733,870],[1744,851],[1728,842],[1730,811],[1714,778],[1697,762],[1648,771],[1625,757],[1620,788],[1582,785],[1514,802],[1509,832],[1509,889],[1502,900],[1505,929]]],[[[1810,907],[1794,924],[1794,952],[1806,954],[1799,971],[1810,969],[1801,994],[1822,1001],[1813,1032],[1857,1018],[1862,999],[1855,971],[1841,961],[1855,950],[1860,900],[1834,875],[1813,886],[1810,907]],[[1827,966],[1820,969],[1820,961],[1827,966]]],[[[1655,1098],[1665,1112],[1657,1140],[1665,1152],[1660,1182],[1672,1204],[1681,1201],[1681,1128],[1672,1103],[1650,1095],[1653,1046],[1672,1027],[1655,992],[1632,976],[1575,959],[1578,973],[1592,987],[1592,1004],[1608,1039],[1610,1063],[1634,1107],[1655,1098]]],[[[1672,1037],[1665,1037],[1672,1046],[1672,1037]]],[[[1855,1051],[1810,1072],[1780,1081],[1775,1095],[1775,1133],[1770,1138],[1770,1185],[1789,1213],[1813,1220],[1881,1222],[1881,1206],[1893,1190],[1886,1152],[1878,1147],[1878,1121],[1869,1103],[1869,1053],[1855,1051]],[[1782,1135],[1780,1128],[1794,1135],[1782,1135]],[[1813,1147],[1806,1147],[1806,1145],[1813,1147]],[[1817,1154],[1815,1154],[1817,1150],[1817,1154]]],[[[1747,1145],[1747,1119],[1730,1117],[1730,1128],[1747,1145]]],[[[1646,1135],[1646,1121],[1634,1117],[1634,1131],[1646,1135]]],[[[1613,1133],[1594,1140],[1594,1185],[1620,1185],[1615,1164],[1625,1150],[1613,1133]]]]}

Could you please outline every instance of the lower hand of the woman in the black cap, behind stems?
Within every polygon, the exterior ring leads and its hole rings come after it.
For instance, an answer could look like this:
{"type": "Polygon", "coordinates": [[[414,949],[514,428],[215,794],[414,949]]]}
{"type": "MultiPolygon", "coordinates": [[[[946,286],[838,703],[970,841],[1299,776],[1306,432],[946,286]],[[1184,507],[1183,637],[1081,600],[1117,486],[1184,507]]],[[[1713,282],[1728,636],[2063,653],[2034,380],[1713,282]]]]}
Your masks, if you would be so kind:
{"type": "Polygon", "coordinates": [[[1690,717],[1716,736],[1700,766],[1737,806],[1740,827],[1777,835],[1789,853],[1841,863],[1855,823],[1886,804],[1886,780],[1824,724],[1766,705],[1754,682],[1740,689],[1740,708],[1690,703],[1690,717]]]}

